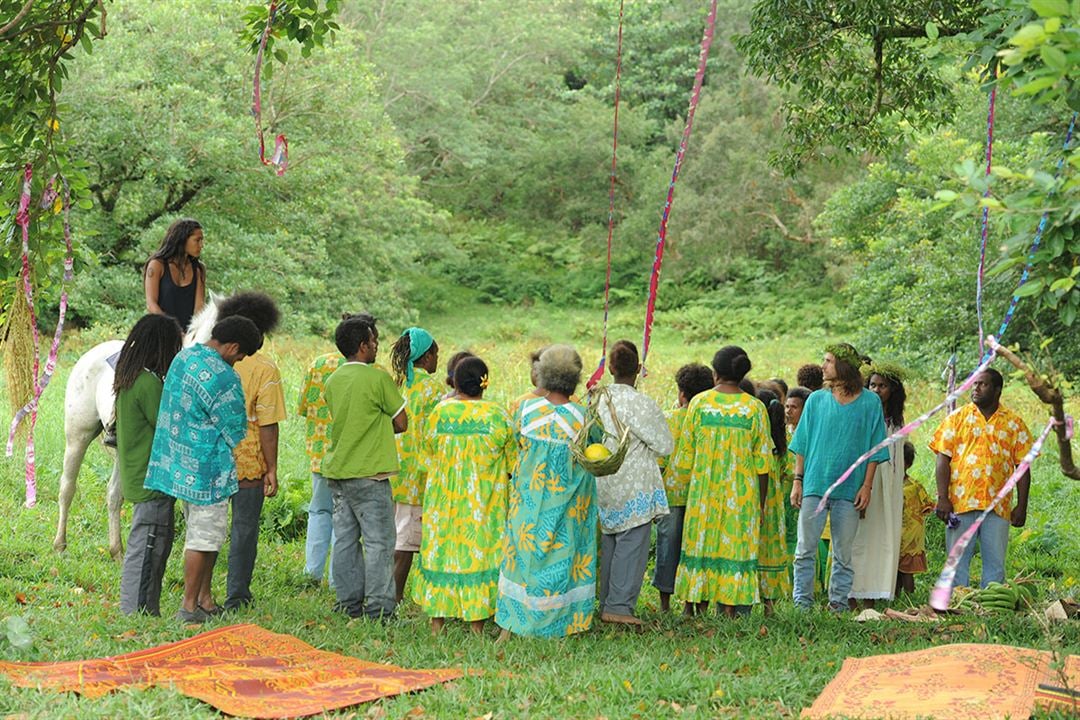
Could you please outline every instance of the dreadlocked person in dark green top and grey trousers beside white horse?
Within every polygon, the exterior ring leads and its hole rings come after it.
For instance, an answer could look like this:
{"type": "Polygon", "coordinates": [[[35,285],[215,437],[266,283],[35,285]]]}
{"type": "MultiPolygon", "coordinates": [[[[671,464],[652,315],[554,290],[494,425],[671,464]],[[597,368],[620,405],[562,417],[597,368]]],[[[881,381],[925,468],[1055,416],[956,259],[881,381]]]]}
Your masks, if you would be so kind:
{"type": "Polygon", "coordinates": [[[167,315],[144,315],[124,341],[112,391],[117,396],[117,464],[124,500],[134,504],[120,571],[120,611],[161,614],[161,580],[173,549],[176,499],[143,487],[158,424],[161,385],[176,353],[180,326],[167,315]]]}

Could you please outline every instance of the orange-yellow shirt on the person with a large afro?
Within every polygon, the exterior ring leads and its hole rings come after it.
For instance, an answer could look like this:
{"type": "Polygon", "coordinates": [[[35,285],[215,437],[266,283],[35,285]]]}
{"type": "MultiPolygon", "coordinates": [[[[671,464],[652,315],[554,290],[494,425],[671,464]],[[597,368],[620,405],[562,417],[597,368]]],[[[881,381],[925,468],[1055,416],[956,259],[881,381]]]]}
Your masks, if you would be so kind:
{"type": "Polygon", "coordinates": [[[267,355],[249,355],[232,366],[244,388],[244,409],[247,412],[247,435],[232,451],[237,458],[237,476],[241,481],[261,479],[267,472],[259,427],[285,419],[285,393],[281,372],[267,355]]]}

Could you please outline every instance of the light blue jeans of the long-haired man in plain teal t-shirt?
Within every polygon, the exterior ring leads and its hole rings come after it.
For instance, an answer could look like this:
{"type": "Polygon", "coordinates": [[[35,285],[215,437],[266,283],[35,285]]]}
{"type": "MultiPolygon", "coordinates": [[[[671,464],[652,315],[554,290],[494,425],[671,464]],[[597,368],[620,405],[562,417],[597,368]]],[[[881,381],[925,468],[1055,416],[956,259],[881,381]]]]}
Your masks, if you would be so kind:
{"type": "Polygon", "coordinates": [[[821,498],[802,498],[799,508],[799,539],[795,546],[795,604],[809,608],[813,604],[814,566],[818,560],[818,542],[825,530],[825,513],[828,513],[833,533],[833,574],[828,581],[828,602],[834,607],[848,607],[851,594],[851,546],[859,529],[859,511],[850,500],[831,498],[825,511],[816,513],[821,498]]]}

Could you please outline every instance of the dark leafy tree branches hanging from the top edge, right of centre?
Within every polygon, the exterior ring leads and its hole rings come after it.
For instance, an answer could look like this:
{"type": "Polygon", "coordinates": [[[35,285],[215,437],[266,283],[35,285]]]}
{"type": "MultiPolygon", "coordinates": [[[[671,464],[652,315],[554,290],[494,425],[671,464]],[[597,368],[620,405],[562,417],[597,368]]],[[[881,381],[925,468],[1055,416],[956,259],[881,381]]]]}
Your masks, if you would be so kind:
{"type": "Polygon", "coordinates": [[[982,12],[939,0],[757,0],[739,47],[755,72],[793,91],[784,164],[888,150],[897,121],[947,120],[953,60],[939,57],[940,45],[974,29],[982,12]]]}

